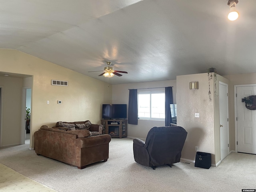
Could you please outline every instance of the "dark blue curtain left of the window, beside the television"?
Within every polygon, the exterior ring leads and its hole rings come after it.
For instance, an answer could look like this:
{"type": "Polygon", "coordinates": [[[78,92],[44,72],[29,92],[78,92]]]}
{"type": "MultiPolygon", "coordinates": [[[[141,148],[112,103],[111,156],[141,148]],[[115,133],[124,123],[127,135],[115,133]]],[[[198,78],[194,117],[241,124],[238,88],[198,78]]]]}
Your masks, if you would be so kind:
{"type": "Polygon", "coordinates": [[[136,89],[129,90],[128,124],[138,125],[138,97],[136,89]]]}

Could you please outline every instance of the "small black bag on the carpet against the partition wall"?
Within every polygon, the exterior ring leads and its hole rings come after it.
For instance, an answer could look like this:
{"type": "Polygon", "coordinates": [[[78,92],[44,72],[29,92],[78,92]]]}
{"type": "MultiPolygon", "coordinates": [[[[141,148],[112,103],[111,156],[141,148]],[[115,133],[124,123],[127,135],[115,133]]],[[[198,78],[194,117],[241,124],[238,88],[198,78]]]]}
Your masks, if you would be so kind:
{"type": "Polygon", "coordinates": [[[205,152],[196,152],[195,167],[209,169],[212,165],[212,155],[205,152]]]}

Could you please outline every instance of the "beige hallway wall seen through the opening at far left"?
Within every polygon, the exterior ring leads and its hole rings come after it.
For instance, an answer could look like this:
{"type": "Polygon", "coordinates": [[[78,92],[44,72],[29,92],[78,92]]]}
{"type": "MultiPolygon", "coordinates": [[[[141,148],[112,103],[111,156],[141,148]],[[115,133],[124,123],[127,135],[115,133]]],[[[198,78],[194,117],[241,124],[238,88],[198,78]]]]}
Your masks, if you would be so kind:
{"type": "Polygon", "coordinates": [[[0,77],[2,87],[1,146],[20,144],[22,78],[0,77]]]}

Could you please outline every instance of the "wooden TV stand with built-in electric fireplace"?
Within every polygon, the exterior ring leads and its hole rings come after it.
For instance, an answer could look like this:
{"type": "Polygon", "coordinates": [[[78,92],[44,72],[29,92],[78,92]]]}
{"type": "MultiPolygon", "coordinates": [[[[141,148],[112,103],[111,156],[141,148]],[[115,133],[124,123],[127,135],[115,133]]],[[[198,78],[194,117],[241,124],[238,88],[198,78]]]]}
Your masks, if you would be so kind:
{"type": "Polygon", "coordinates": [[[112,138],[127,137],[127,119],[101,120],[103,134],[110,134],[112,138]]]}

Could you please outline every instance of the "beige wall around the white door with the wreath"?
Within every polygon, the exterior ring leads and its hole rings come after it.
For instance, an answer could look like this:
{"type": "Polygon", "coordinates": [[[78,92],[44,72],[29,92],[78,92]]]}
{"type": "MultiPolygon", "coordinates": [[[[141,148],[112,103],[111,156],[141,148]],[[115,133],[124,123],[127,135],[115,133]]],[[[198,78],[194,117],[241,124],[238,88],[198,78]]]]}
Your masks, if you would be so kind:
{"type": "Polygon", "coordinates": [[[228,80],[230,80],[230,86],[228,89],[229,94],[229,103],[230,103],[230,150],[235,150],[235,107],[234,107],[234,85],[245,85],[245,84],[256,84],[256,73],[248,73],[248,74],[238,74],[238,75],[226,75],[224,76],[228,80]]]}

